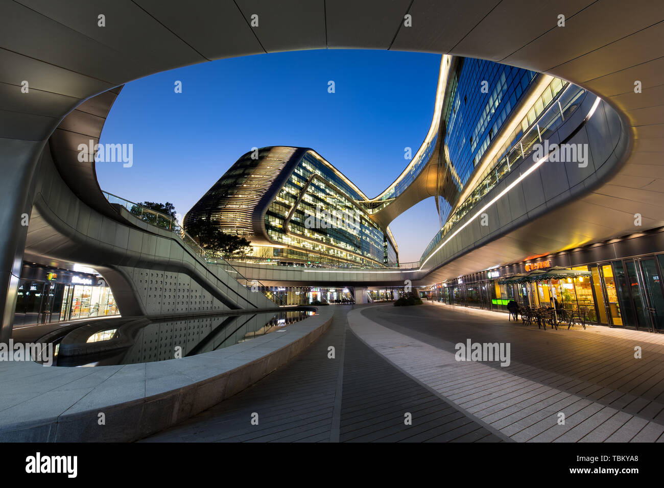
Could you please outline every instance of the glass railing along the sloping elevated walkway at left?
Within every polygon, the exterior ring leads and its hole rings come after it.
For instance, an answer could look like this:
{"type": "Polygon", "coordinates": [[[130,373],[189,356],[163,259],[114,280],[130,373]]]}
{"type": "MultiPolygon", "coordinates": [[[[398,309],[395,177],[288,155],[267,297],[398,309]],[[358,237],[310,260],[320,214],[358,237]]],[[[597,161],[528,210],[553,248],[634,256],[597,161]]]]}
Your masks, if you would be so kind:
{"type": "Polygon", "coordinates": [[[118,195],[113,195],[112,193],[108,193],[106,191],[102,191],[102,194],[104,197],[106,197],[106,200],[108,200],[109,203],[124,206],[124,208],[126,208],[131,214],[137,216],[137,218],[140,218],[143,220],[143,222],[147,222],[148,224],[152,224],[165,230],[170,230],[173,232],[173,234],[175,234],[175,236],[187,244],[187,247],[189,247],[189,249],[192,250],[197,256],[203,258],[207,264],[216,264],[221,266],[224,268],[224,271],[230,274],[230,276],[233,276],[237,282],[244,286],[246,289],[249,289],[250,291],[260,291],[260,293],[262,293],[266,298],[274,301],[274,303],[277,305],[282,305],[282,303],[279,303],[281,302],[281,299],[272,293],[272,291],[267,290],[267,287],[264,286],[261,282],[258,280],[247,280],[244,278],[244,276],[242,276],[242,274],[240,274],[240,272],[238,272],[238,270],[233,268],[233,266],[231,266],[228,261],[224,260],[224,258],[221,258],[220,256],[215,255],[214,253],[201,247],[201,245],[196,242],[193,237],[187,234],[185,229],[183,229],[182,226],[177,223],[175,218],[161,212],[157,212],[156,210],[152,210],[151,208],[146,208],[143,205],[130,202],[123,199],[122,197],[118,197],[118,195]],[[261,287],[263,289],[260,289],[261,287]]]}

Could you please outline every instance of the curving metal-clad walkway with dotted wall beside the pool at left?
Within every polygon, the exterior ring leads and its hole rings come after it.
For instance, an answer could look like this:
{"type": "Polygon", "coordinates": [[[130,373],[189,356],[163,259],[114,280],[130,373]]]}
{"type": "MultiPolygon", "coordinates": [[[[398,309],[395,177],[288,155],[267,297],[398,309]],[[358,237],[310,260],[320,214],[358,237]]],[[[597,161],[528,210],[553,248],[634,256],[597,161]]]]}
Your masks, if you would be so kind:
{"type": "Polygon", "coordinates": [[[277,307],[238,282],[227,264],[205,256],[175,232],[109,204],[108,215],[82,203],[64,183],[48,147],[28,228],[25,258],[79,263],[108,282],[122,315],[162,315],[277,307]]]}

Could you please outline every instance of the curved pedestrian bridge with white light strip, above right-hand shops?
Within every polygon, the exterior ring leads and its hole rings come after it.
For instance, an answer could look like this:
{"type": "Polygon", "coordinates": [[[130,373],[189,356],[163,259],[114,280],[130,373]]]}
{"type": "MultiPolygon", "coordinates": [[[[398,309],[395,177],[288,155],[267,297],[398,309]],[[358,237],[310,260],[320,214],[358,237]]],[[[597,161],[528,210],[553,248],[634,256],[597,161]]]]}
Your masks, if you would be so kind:
{"type": "MultiPolygon", "coordinates": [[[[588,188],[612,175],[630,139],[618,113],[584,92],[571,116],[548,120],[548,141],[590,148],[583,163],[551,161],[530,147],[489,191],[470,206],[459,206],[448,224],[426,246],[420,261],[398,268],[303,268],[234,262],[248,280],[266,285],[430,285],[463,274],[631,232],[624,208],[590,203],[588,188]],[[536,159],[535,156],[540,156],[536,159]],[[589,225],[592,222],[592,225],[589,225]]],[[[558,107],[554,107],[558,111],[558,107]]],[[[524,139],[533,139],[530,134],[524,139]]],[[[551,158],[554,159],[554,158],[551,158]]]]}

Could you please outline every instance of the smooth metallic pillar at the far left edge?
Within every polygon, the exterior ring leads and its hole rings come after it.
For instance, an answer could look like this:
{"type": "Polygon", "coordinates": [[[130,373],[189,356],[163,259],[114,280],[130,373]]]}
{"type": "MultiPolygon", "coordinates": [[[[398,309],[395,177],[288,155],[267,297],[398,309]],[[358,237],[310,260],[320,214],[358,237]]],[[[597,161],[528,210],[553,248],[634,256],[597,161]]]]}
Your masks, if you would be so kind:
{"type": "Polygon", "coordinates": [[[0,138],[0,342],[11,338],[42,141],[0,138]]]}

